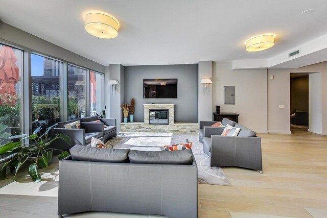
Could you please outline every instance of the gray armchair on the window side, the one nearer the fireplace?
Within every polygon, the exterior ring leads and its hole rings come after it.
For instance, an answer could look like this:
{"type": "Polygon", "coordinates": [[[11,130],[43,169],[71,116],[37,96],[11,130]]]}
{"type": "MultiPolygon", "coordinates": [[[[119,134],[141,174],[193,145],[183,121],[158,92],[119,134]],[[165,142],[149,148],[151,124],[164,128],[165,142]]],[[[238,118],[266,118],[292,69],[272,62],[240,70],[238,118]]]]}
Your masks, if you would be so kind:
{"type": "Polygon", "coordinates": [[[117,136],[116,119],[98,118],[98,116],[89,116],[89,117],[81,118],[81,122],[94,122],[96,120],[100,120],[101,123],[106,125],[106,127],[102,129],[104,142],[106,142],[110,138],[117,136]]]}

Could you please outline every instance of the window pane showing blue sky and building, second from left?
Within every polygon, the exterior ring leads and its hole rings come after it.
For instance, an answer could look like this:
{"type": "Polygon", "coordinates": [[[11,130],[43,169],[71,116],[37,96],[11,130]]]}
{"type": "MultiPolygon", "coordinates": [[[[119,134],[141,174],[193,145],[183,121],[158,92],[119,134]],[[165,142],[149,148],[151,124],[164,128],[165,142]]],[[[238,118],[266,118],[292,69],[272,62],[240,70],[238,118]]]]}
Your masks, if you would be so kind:
{"type": "Polygon", "coordinates": [[[62,62],[31,54],[32,131],[61,120],[62,72],[62,62]]]}

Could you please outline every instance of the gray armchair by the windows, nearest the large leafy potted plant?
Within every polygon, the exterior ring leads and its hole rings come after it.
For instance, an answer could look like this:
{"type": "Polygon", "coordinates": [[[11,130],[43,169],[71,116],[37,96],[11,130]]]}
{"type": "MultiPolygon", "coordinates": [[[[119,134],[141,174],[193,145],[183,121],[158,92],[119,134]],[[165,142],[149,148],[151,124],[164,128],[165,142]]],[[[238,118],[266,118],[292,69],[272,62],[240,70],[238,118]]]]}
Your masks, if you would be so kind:
{"type": "MultiPolygon", "coordinates": [[[[84,146],[89,144],[92,137],[103,140],[103,123],[81,122],[81,129],[65,129],[66,124],[76,122],[77,120],[78,119],[57,123],[57,126],[51,129],[51,138],[61,133],[68,135],[72,140],[71,144],[67,144],[62,139],[57,139],[51,142],[51,148],[69,151],[75,144],[83,144],[84,146]]],[[[58,152],[54,153],[58,154],[58,152]]]]}

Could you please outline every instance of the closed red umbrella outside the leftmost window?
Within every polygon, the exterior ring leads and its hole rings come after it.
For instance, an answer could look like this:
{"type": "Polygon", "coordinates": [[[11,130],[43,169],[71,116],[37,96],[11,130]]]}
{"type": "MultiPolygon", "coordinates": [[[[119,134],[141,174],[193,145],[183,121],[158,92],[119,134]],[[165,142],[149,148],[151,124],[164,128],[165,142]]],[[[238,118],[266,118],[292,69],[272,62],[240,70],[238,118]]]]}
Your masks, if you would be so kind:
{"type": "MultiPolygon", "coordinates": [[[[15,95],[15,84],[19,80],[19,69],[16,65],[17,58],[12,48],[9,46],[2,46],[0,49],[0,94],[2,94],[7,101],[8,95],[15,95]]],[[[12,102],[15,105],[15,102],[12,102]]],[[[0,105],[3,102],[0,100],[0,105]]]]}

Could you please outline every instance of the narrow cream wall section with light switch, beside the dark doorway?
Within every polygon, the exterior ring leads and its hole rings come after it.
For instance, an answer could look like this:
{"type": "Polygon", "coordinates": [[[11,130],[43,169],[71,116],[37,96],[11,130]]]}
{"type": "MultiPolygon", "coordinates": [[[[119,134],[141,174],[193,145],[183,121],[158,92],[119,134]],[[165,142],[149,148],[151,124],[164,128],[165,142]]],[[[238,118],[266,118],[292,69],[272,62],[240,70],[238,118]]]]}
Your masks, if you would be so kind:
{"type": "Polygon", "coordinates": [[[268,69],[268,131],[291,134],[290,69],[268,69]],[[274,79],[271,80],[270,76],[274,79]],[[279,108],[285,105],[285,108],[279,108]]]}

